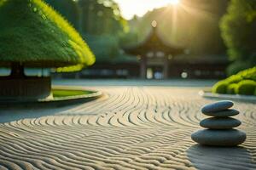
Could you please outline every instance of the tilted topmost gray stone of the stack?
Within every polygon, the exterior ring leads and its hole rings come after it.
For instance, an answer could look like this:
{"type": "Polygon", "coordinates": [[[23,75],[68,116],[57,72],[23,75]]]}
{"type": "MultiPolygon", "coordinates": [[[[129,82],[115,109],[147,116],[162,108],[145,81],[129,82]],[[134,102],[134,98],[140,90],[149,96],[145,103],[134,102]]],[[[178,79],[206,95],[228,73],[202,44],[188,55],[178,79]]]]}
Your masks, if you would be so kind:
{"type": "Polygon", "coordinates": [[[201,108],[202,113],[212,113],[216,111],[224,111],[232,107],[234,103],[229,100],[223,100],[223,101],[218,101],[213,104],[205,105],[203,108],[201,108]]]}

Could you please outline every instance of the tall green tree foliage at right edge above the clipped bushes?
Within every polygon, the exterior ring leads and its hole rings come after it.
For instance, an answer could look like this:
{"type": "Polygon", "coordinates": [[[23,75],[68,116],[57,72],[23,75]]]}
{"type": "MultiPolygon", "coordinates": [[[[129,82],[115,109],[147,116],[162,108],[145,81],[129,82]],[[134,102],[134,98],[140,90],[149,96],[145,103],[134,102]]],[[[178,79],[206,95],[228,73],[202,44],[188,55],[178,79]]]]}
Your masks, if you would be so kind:
{"type": "Polygon", "coordinates": [[[256,0],[231,0],[220,28],[230,59],[249,61],[247,68],[256,65],[256,0]]]}

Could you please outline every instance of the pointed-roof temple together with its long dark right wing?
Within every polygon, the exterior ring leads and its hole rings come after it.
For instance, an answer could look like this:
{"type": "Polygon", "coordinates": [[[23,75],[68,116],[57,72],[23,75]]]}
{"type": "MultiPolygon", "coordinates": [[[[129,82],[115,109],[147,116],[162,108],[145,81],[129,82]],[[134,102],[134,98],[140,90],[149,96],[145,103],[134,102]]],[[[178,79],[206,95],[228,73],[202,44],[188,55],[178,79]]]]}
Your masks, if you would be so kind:
{"type": "Polygon", "coordinates": [[[220,54],[189,54],[189,50],[164,41],[157,31],[156,21],[143,42],[125,47],[126,54],[137,56],[140,61],[140,77],[143,79],[225,77],[230,61],[220,54]]]}

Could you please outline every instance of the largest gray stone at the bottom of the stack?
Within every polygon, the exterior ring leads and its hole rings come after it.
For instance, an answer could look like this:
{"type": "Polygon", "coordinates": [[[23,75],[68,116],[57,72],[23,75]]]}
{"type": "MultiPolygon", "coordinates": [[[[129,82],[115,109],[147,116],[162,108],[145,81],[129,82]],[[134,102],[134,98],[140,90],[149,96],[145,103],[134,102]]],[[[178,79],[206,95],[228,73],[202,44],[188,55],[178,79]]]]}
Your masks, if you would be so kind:
{"type": "Polygon", "coordinates": [[[236,129],[212,130],[204,129],[192,133],[191,139],[198,144],[212,146],[236,146],[247,138],[246,133],[236,129]]]}

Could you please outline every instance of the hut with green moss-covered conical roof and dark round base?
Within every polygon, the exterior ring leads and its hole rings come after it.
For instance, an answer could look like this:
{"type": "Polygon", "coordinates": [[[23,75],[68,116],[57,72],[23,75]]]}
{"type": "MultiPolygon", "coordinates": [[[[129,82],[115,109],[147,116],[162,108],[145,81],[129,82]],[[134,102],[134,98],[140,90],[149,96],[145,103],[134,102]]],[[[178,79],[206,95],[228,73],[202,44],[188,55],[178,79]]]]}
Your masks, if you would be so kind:
{"type": "Polygon", "coordinates": [[[0,0],[0,96],[42,99],[50,94],[49,77],[26,77],[25,67],[79,71],[92,65],[90,48],[53,8],[41,0],[0,0]]]}

